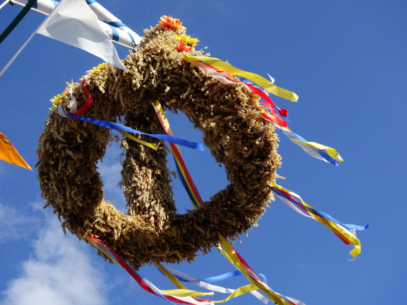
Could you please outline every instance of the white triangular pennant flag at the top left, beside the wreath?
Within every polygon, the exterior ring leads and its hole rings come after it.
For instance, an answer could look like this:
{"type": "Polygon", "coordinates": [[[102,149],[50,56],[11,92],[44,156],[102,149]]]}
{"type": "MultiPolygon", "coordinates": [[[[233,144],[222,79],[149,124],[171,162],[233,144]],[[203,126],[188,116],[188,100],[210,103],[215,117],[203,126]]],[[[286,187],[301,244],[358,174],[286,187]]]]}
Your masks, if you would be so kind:
{"type": "Polygon", "coordinates": [[[61,1],[37,33],[78,47],[126,70],[109,36],[101,28],[98,17],[85,0],[61,1]]]}

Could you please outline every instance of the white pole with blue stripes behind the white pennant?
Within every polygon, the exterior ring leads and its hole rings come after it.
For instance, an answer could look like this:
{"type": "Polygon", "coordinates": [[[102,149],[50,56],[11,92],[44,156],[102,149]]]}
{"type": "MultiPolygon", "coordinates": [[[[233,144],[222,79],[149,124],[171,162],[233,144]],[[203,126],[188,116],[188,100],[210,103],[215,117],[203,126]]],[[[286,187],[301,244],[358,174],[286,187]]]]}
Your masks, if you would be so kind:
{"type": "MultiPolygon", "coordinates": [[[[13,3],[25,5],[27,0],[12,0],[13,3]]],[[[54,0],[37,0],[33,6],[36,11],[49,15],[59,3],[54,0]]],[[[141,37],[126,26],[120,19],[111,14],[103,6],[94,0],[86,0],[86,4],[97,15],[100,26],[109,35],[110,39],[123,44],[129,48],[134,48],[141,41],[141,37]]]]}

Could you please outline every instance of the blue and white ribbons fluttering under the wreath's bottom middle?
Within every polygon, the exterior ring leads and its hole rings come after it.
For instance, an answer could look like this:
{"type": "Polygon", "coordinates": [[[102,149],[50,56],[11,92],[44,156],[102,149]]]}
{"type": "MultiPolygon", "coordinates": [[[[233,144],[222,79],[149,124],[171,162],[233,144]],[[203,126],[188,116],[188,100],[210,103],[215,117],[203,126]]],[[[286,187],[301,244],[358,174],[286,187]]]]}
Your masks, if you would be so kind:
{"type": "MultiPolygon", "coordinates": [[[[161,264],[161,266],[162,266],[162,264],[161,264]]],[[[254,288],[252,286],[253,284],[245,285],[245,286],[239,287],[237,289],[230,289],[230,288],[225,288],[225,287],[221,287],[221,286],[217,286],[217,285],[212,284],[212,283],[215,283],[215,282],[218,282],[218,281],[221,281],[221,280],[227,280],[227,279],[230,279],[231,277],[242,275],[242,272],[240,272],[238,270],[228,272],[228,273],[225,273],[224,275],[220,275],[220,276],[217,276],[217,277],[211,277],[211,278],[208,278],[208,279],[197,280],[197,279],[192,278],[191,276],[188,276],[185,273],[183,273],[181,271],[178,271],[178,270],[176,270],[174,268],[171,268],[171,267],[168,267],[168,266],[166,268],[169,271],[171,271],[172,276],[176,277],[178,280],[180,280],[182,282],[189,282],[189,283],[195,284],[198,287],[205,288],[205,289],[212,290],[212,291],[216,291],[216,292],[220,292],[220,293],[225,293],[225,294],[226,293],[232,294],[236,290],[240,289],[240,291],[244,291],[245,293],[247,293],[247,292],[251,293],[252,295],[254,295],[256,298],[258,298],[260,301],[262,301],[265,304],[267,304],[269,302],[269,299],[267,297],[265,297],[263,294],[256,291],[257,288],[256,288],[256,290],[249,291],[249,290],[251,290],[251,288],[254,288]]],[[[161,269],[160,269],[160,271],[161,271],[161,269]]],[[[166,275],[166,276],[169,277],[168,275],[166,275]]],[[[264,276],[263,276],[263,279],[265,280],[264,276]]]]}

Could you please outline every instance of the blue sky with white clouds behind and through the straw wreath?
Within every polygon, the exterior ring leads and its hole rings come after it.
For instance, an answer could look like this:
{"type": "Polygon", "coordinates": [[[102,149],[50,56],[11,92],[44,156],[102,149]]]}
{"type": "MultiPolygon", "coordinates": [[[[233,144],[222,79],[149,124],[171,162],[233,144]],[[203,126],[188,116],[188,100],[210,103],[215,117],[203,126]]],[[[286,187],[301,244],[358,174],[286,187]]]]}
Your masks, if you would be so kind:
{"type": "MultiPolygon", "coordinates": [[[[359,232],[362,253],[348,262],[351,246],[323,225],[276,199],[234,246],[268,284],[308,305],[398,301],[403,291],[406,148],[404,113],[407,62],[406,5],[402,1],[100,1],[136,33],[161,15],[181,18],[187,34],[212,56],[246,71],[270,73],[293,90],[298,103],[273,100],[289,109],[289,127],[309,141],[335,147],[339,167],[312,159],[281,137],[286,177],[279,184],[343,223],[370,224],[359,232]]],[[[20,7],[0,10],[1,31],[20,7]]],[[[0,45],[3,67],[44,19],[29,12],[0,45]]],[[[126,48],[117,46],[121,58],[126,48]]],[[[36,35],[0,78],[0,132],[32,166],[50,107],[65,81],[77,81],[100,59],[36,35]]],[[[169,115],[173,132],[200,141],[182,115],[169,115]]],[[[227,185],[210,151],[182,150],[204,200],[227,185]]],[[[124,210],[117,187],[120,150],[108,150],[99,170],[106,198],[124,210]]],[[[168,166],[175,168],[169,160],[168,166]]],[[[180,182],[173,183],[179,211],[190,208],[180,182]]],[[[75,236],[64,236],[50,207],[42,206],[35,172],[0,163],[0,304],[164,304],[142,291],[118,265],[109,265],[75,236]]],[[[192,264],[173,266],[196,278],[233,270],[216,249],[192,264]]],[[[162,289],[173,288],[153,266],[141,275],[162,289]]],[[[236,288],[245,279],[220,285],[236,288]]],[[[223,295],[216,295],[217,299],[223,295]]],[[[231,304],[258,302],[241,296],[231,304]]]]}

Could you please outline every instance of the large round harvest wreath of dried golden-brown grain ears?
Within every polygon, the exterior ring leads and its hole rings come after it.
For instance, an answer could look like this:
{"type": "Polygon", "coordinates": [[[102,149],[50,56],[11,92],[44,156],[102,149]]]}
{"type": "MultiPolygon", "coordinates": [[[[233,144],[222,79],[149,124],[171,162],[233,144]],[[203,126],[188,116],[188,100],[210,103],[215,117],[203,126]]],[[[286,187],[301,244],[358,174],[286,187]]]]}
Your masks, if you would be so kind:
{"type": "MultiPolygon", "coordinates": [[[[162,133],[153,102],[184,112],[202,131],[215,160],[224,164],[230,182],[224,190],[199,209],[177,214],[167,150],[155,151],[125,138],[124,215],[104,200],[96,168],[112,140],[109,130],[60,117],[53,109],[38,141],[42,196],[64,230],[79,239],[85,234],[101,239],[135,269],[152,262],[192,261],[199,250],[207,253],[218,242],[218,233],[235,239],[256,225],[272,199],[268,184],[280,166],[274,127],[258,115],[265,108],[246,87],[222,84],[185,63],[174,34],[181,33],[151,27],[144,31],[138,51],[123,60],[126,71],[106,64],[83,76],[94,100],[85,116],[115,121],[124,115],[126,126],[162,133]]],[[[80,106],[87,95],[80,83],[70,85],[80,106]]],[[[68,111],[69,95],[61,103],[68,111]]]]}

